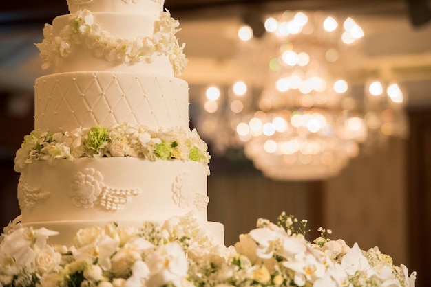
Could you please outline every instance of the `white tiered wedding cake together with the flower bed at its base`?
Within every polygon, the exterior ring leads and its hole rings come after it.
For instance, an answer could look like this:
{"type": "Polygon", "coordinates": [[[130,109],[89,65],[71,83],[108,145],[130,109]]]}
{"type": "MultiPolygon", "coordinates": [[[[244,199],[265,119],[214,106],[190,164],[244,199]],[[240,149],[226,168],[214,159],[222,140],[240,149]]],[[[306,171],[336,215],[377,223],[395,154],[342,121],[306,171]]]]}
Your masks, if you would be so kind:
{"type": "Polygon", "coordinates": [[[38,45],[35,129],[0,286],[414,286],[379,249],[281,214],[224,246],[207,221],[207,145],[190,130],[178,22],[163,0],[69,0],[38,45]],[[48,240],[48,242],[47,242],[48,240]]]}

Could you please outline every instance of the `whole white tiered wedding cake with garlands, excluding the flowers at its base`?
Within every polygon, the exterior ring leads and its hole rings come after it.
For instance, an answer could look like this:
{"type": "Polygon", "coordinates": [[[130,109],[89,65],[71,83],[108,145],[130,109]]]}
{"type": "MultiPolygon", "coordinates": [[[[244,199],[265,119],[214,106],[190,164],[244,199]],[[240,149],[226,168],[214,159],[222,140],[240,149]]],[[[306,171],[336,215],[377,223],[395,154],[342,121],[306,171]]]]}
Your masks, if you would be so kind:
{"type": "Polygon", "coordinates": [[[207,222],[207,145],[189,129],[187,60],[163,0],[68,0],[38,44],[34,131],[17,152],[24,226],[140,225],[192,213],[207,222]]]}

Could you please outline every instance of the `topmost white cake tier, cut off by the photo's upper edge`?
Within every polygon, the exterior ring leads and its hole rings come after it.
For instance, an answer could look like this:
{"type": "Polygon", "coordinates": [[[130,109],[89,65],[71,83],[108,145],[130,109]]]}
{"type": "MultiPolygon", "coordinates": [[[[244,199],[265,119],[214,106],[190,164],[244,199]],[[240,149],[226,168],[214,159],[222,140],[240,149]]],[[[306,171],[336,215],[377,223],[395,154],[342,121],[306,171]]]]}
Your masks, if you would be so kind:
{"type": "Polygon", "coordinates": [[[164,0],[67,0],[70,13],[80,9],[94,12],[162,12],[164,0]]]}

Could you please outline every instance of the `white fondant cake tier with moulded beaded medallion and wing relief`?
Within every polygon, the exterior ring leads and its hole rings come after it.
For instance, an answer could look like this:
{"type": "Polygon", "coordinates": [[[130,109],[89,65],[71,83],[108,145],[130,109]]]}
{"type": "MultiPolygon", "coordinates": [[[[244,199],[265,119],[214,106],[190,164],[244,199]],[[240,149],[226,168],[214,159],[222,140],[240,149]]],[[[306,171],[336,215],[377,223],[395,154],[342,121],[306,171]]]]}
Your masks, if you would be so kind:
{"type": "Polygon", "coordinates": [[[207,220],[207,173],[193,161],[80,158],[34,161],[21,171],[23,223],[167,220],[193,211],[207,220]]]}

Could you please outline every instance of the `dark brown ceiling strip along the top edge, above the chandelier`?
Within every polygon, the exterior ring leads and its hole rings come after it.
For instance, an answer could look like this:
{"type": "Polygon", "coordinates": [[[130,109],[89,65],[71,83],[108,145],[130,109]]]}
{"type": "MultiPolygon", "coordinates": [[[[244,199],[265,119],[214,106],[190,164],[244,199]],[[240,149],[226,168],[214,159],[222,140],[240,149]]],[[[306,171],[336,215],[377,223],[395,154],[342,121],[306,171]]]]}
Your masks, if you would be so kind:
{"type": "MultiPolygon", "coordinates": [[[[410,14],[414,25],[431,19],[428,0],[165,0],[165,7],[177,19],[238,16],[250,11],[333,10],[349,14],[410,14]]],[[[67,14],[66,0],[2,1],[0,30],[50,23],[60,14],[67,14]]],[[[0,31],[1,32],[1,31],[0,31]]]]}

